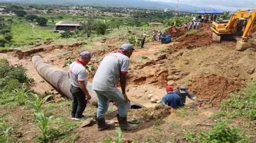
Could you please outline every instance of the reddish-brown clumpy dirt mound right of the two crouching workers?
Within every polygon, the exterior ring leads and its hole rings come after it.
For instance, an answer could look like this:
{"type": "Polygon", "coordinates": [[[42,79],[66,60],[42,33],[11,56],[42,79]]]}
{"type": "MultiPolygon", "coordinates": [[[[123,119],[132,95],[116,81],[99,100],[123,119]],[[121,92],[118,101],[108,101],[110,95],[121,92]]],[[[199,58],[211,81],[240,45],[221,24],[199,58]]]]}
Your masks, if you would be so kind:
{"type": "Polygon", "coordinates": [[[188,85],[189,90],[201,99],[212,99],[219,103],[227,98],[227,95],[242,88],[241,82],[228,79],[216,74],[208,74],[200,77],[194,77],[193,83],[188,85]]]}

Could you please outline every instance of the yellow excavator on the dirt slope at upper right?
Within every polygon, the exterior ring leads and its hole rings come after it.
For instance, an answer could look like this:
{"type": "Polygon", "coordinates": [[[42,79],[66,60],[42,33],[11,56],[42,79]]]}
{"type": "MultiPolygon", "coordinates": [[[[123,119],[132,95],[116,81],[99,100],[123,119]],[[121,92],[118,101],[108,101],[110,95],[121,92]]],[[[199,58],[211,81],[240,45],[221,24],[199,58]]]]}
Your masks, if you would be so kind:
{"type": "Polygon", "coordinates": [[[220,42],[223,38],[234,38],[237,40],[237,49],[250,38],[254,22],[256,20],[256,9],[238,10],[234,12],[228,22],[212,23],[212,41],[220,42]],[[250,11],[252,11],[250,13],[250,11]],[[242,30],[244,27],[244,31],[242,30]]]}

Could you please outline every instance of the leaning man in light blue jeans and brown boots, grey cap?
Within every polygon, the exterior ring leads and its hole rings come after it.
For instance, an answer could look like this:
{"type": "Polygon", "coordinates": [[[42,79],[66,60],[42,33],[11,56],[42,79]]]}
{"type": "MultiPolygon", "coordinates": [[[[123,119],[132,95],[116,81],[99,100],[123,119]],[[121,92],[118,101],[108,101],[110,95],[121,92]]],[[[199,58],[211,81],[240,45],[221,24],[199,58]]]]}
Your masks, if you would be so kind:
{"type": "Polygon", "coordinates": [[[109,108],[111,99],[119,105],[118,123],[122,130],[134,130],[138,125],[127,122],[127,113],[131,107],[129,98],[126,95],[126,74],[128,73],[130,56],[134,48],[131,44],[123,44],[120,51],[112,53],[102,60],[92,81],[92,89],[95,90],[98,97],[98,110],[96,123],[98,131],[110,128],[112,124],[105,123],[105,113],[109,108]],[[117,89],[116,84],[120,78],[122,93],[117,89]]]}

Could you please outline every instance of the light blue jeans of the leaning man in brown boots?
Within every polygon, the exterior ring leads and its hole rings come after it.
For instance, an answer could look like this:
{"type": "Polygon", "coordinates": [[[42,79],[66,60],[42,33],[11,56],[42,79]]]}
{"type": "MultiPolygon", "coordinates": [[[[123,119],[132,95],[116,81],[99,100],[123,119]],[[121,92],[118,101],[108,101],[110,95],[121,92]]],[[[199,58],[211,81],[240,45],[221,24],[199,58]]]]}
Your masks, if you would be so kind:
{"type": "Polygon", "coordinates": [[[109,108],[109,99],[113,100],[119,105],[118,112],[119,117],[126,117],[129,109],[131,108],[130,102],[124,102],[124,95],[118,90],[112,91],[97,91],[98,97],[98,110],[97,118],[104,118],[107,109],[109,108]]]}

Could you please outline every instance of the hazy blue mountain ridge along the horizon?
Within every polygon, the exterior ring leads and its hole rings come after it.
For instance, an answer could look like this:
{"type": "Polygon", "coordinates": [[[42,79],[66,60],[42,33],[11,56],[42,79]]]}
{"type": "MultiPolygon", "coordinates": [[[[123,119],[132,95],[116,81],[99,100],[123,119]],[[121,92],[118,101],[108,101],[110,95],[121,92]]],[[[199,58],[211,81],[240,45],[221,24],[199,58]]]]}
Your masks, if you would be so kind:
{"type": "MultiPolygon", "coordinates": [[[[91,6],[115,6],[123,8],[143,9],[171,9],[175,10],[176,3],[150,2],[144,0],[2,0],[3,2],[33,3],[33,4],[59,4],[59,5],[91,5],[91,6]]],[[[195,11],[199,9],[211,9],[200,6],[179,4],[179,11],[195,11]]]]}

